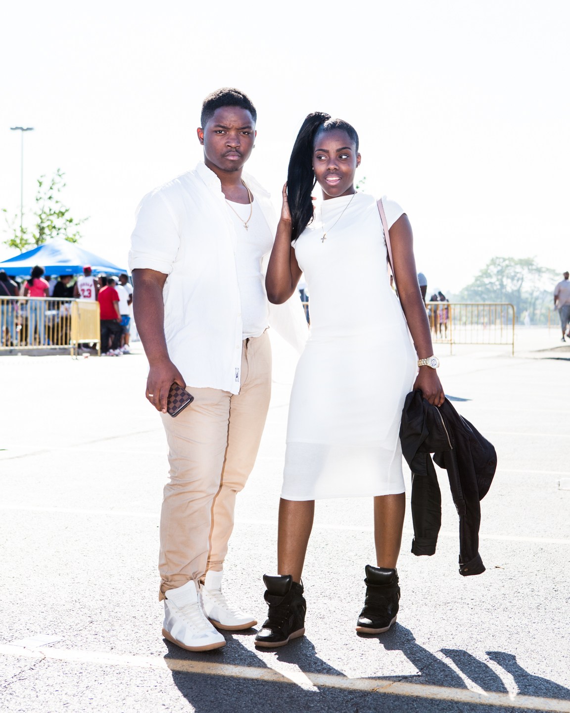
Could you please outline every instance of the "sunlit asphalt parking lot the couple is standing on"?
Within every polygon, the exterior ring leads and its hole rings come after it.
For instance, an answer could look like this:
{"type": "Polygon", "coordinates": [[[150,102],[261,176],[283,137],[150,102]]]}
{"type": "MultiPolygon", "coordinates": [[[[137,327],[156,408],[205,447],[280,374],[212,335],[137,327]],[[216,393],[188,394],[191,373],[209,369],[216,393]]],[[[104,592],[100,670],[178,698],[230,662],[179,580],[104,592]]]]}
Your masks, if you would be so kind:
{"type": "MultiPolygon", "coordinates": [[[[269,418],[239,496],[224,587],[260,623],[294,368],[274,344],[269,418]]],[[[499,456],[482,501],[487,571],[457,571],[457,513],[440,471],[437,553],[410,553],[408,518],[398,624],[358,636],[371,502],[319,502],[306,636],[257,651],[254,630],[232,633],[203,654],[161,635],[167,466],[144,398],[144,355],[0,357],[2,710],[570,712],[570,349],[542,331],[521,337],[514,357],[500,347],[455,352],[441,353],[445,392],[499,456]]]]}

